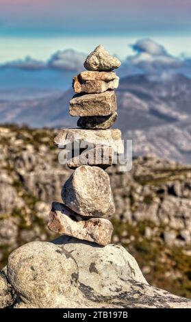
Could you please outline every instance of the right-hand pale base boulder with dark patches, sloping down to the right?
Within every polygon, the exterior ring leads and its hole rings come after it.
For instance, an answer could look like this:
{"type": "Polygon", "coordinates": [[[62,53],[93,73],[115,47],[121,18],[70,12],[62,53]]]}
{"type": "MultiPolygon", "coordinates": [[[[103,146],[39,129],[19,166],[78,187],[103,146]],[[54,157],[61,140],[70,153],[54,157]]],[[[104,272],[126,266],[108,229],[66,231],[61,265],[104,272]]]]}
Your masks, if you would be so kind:
{"type": "Polygon", "coordinates": [[[191,308],[191,301],[150,286],[136,260],[120,245],[99,247],[61,236],[53,243],[73,254],[79,289],[87,299],[118,308],[191,308]]]}

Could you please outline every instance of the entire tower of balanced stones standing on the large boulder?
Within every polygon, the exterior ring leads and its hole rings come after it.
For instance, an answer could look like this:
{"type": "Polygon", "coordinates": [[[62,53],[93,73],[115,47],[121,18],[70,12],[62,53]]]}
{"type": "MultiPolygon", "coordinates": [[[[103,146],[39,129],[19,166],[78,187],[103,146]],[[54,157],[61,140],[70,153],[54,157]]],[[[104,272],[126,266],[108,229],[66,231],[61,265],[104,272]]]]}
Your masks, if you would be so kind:
{"type": "Polygon", "coordinates": [[[101,45],[88,55],[84,62],[88,71],[73,79],[75,96],[69,106],[71,116],[79,116],[78,128],[62,129],[54,140],[60,149],[66,148],[66,140],[71,143],[72,157],[67,165],[75,171],[62,187],[63,203],[52,205],[48,227],[99,245],[111,241],[109,218],[115,211],[110,178],[104,169],[112,165],[115,153],[123,153],[120,130],[110,129],[117,118],[114,89],[119,77],[113,70],[119,66],[120,61],[101,45]],[[93,147],[74,156],[76,140],[93,147]]]}

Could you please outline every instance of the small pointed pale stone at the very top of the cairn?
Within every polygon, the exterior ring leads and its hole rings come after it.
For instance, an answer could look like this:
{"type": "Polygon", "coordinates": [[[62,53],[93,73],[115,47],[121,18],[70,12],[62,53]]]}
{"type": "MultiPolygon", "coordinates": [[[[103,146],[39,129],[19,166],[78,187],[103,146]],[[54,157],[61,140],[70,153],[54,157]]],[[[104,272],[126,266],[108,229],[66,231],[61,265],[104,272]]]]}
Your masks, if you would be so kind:
{"type": "Polygon", "coordinates": [[[88,55],[84,62],[84,67],[88,71],[112,71],[118,69],[120,61],[112,57],[102,45],[99,45],[88,55]]]}

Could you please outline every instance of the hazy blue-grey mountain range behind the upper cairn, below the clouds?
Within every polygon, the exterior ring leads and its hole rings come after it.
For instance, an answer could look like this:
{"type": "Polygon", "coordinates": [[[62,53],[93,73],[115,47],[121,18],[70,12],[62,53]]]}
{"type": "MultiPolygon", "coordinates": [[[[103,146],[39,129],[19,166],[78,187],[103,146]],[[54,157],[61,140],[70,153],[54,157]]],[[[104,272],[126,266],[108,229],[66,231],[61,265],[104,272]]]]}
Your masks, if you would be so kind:
{"type": "MultiPolygon", "coordinates": [[[[72,96],[72,89],[31,92],[20,88],[15,99],[14,90],[10,93],[1,90],[0,122],[29,127],[75,127],[77,118],[68,114],[72,96]]],[[[147,75],[123,77],[117,97],[119,116],[115,127],[122,130],[124,138],[133,139],[134,155],[155,153],[191,162],[190,78],[180,74],[166,80],[147,75]]]]}

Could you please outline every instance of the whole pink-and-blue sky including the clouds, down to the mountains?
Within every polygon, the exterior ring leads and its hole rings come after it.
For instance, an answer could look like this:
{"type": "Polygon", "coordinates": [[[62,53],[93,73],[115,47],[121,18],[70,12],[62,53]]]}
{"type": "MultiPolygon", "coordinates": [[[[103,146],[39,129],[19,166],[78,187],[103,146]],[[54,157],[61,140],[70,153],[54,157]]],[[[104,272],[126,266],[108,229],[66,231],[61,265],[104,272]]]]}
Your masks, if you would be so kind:
{"type": "Polygon", "coordinates": [[[99,44],[123,60],[120,75],[191,77],[190,14],[191,0],[0,0],[0,83],[58,82],[99,44]]]}

